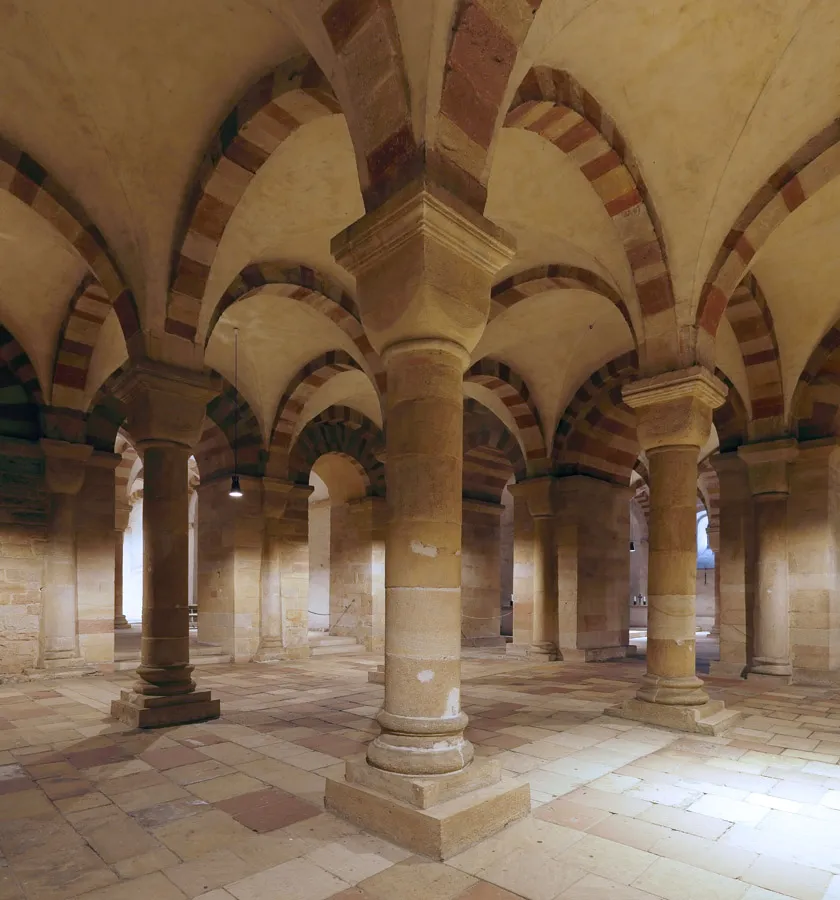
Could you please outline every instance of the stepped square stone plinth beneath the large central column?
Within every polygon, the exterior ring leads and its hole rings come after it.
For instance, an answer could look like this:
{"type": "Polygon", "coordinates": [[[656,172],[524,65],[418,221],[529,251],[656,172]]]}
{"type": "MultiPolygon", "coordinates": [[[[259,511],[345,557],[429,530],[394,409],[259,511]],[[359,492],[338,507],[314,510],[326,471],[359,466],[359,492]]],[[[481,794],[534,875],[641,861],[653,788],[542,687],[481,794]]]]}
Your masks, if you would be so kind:
{"type": "Polygon", "coordinates": [[[530,812],[528,784],[500,773],[497,760],[481,759],[450,775],[396,775],[358,756],[327,778],[324,806],[414,853],[448,859],[530,812]]]}

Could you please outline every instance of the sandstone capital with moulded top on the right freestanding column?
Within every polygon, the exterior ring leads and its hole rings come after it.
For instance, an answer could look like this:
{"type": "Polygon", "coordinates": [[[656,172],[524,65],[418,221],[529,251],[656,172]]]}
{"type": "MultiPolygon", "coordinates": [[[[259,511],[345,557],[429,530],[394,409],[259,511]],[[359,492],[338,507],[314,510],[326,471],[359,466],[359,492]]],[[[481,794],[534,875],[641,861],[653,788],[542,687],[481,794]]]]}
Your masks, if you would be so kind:
{"type": "Polygon", "coordinates": [[[712,427],[712,410],[726,399],[726,385],[703,366],[665,372],[626,384],[624,402],[636,411],[644,451],[702,447],[712,427]]]}

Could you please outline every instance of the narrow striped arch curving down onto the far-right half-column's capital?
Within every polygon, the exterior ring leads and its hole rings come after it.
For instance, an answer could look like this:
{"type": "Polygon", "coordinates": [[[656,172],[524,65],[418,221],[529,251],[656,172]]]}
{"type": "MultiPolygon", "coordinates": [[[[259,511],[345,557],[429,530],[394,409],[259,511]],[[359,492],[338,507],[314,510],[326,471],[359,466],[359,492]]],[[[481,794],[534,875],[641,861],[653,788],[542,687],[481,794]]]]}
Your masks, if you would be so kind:
{"type": "Polygon", "coordinates": [[[726,318],[744,360],[752,422],[762,432],[778,434],[785,413],[779,345],[773,315],[754,275],[747,274],[735,289],[726,318]]]}

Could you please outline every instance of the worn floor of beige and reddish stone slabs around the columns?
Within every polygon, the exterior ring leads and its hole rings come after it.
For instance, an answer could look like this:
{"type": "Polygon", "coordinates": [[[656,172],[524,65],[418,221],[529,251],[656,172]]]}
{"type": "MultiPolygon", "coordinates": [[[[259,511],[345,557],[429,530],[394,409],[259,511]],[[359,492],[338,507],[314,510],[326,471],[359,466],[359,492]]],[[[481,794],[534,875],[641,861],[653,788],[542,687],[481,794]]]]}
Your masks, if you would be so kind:
{"type": "Polygon", "coordinates": [[[443,865],[323,812],[376,732],[373,656],[202,668],[217,722],[107,718],[128,673],[0,686],[0,900],[840,898],[840,695],[709,682],[747,717],[698,738],[602,715],[639,662],[470,652],[469,735],[534,816],[443,865]]]}

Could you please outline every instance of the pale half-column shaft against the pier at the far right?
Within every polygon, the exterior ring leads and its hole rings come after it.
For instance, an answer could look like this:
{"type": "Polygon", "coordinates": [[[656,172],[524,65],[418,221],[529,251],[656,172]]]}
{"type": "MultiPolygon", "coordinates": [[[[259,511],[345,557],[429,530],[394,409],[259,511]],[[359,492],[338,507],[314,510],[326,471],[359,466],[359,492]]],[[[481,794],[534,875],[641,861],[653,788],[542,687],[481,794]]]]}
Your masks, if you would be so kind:
{"type": "Polygon", "coordinates": [[[755,498],[756,605],[752,671],[790,675],[787,495],[755,498]]]}

